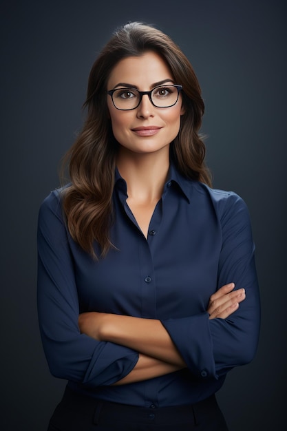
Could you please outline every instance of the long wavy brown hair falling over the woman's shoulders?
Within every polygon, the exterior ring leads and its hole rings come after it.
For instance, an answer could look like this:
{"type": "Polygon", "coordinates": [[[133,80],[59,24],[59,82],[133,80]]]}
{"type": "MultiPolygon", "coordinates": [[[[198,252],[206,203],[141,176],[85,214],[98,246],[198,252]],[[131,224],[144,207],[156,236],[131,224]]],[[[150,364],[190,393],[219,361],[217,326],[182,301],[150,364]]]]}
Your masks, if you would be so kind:
{"type": "Polygon", "coordinates": [[[94,240],[101,255],[113,246],[109,229],[113,220],[112,194],[118,143],[111,131],[107,109],[107,81],[118,61],[129,56],[156,52],[169,66],[177,84],[182,85],[180,131],[171,143],[171,159],[187,178],[211,186],[204,156],[205,145],[199,130],[204,114],[198,78],[191,63],[167,34],[143,23],[127,23],[117,29],[92,66],[83,105],[87,118],[76,142],[63,160],[70,185],[63,189],[63,210],[72,238],[97,258],[94,240]]]}

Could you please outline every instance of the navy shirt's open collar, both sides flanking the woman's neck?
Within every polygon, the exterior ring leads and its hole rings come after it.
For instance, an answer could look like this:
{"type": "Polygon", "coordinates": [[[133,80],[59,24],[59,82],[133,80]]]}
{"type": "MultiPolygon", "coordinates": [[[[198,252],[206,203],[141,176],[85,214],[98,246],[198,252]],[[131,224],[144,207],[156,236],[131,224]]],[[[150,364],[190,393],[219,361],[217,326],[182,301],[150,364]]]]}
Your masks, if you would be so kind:
{"type": "MultiPolygon", "coordinates": [[[[177,189],[184,198],[187,199],[187,201],[190,203],[190,191],[191,191],[191,184],[192,180],[189,180],[188,178],[185,178],[180,174],[178,169],[176,169],[176,166],[173,162],[171,162],[169,166],[169,174],[167,176],[167,182],[164,185],[164,192],[167,191],[167,188],[174,187],[177,189]]],[[[118,171],[118,168],[116,167],[115,171],[115,186],[120,190],[123,191],[123,193],[127,194],[127,183],[125,182],[124,178],[120,176],[120,172],[118,171]]]]}

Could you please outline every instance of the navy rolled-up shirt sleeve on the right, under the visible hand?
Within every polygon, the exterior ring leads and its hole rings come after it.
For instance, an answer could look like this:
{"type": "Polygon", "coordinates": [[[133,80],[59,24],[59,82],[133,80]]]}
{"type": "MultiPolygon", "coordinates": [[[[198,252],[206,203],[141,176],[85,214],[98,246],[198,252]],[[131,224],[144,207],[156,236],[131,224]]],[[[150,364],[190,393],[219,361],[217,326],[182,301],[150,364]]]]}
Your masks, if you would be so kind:
{"type": "Polygon", "coordinates": [[[169,332],[187,366],[198,377],[217,379],[255,356],[259,338],[260,302],[255,269],[255,246],[246,204],[235,193],[214,203],[222,231],[218,257],[217,288],[234,282],[245,288],[246,299],[226,319],[209,319],[199,313],[182,319],[166,319],[169,332]]]}

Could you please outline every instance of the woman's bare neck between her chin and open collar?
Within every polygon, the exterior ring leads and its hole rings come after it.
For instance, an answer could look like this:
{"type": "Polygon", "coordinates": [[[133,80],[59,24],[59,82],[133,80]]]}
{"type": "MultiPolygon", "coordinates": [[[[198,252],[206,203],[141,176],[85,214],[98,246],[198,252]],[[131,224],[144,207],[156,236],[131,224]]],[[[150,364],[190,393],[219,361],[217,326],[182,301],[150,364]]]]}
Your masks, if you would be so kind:
{"type": "Polygon", "coordinates": [[[127,182],[129,199],[142,202],[158,201],[169,171],[169,152],[165,154],[135,154],[120,151],[118,171],[127,182]]]}

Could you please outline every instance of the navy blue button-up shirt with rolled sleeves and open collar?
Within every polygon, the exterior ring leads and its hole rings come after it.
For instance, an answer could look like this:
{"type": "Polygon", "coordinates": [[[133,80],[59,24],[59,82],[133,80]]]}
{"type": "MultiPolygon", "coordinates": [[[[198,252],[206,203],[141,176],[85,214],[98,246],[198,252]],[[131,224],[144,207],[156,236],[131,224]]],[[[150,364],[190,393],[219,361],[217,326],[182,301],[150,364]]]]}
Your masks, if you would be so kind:
{"type": "Polygon", "coordinates": [[[222,386],[228,370],[251,361],[257,348],[259,293],[246,204],[171,166],[145,238],[118,171],[113,199],[116,249],[98,262],[70,237],[61,189],[41,205],[38,310],[50,371],[107,401],[147,407],[200,401],[222,386]],[[227,319],[210,320],[209,298],[230,282],[245,288],[246,299],[227,319]],[[188,368],[112,386],[134,368],[138,353],[81,334],[78,315],[85,311],[160,319],[188,368]]]}

